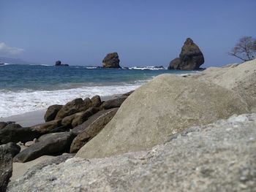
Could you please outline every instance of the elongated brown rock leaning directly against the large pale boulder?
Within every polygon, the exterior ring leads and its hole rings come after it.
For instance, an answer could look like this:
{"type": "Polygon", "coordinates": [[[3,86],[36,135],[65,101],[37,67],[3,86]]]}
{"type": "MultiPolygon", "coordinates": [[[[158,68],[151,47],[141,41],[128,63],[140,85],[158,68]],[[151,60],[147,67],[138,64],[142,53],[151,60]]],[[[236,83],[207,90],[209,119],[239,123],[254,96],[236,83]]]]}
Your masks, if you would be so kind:
{"type": "Polygon", "coordinates": [[[103,115],[99,116],[90,126],[88,126],[83,132],[78,134],[77,137],[72,141],[70,146],[70,153],[77,153],[86,142],[89,142],[90,139],[94,138],[99,131],[104,128],[108,122],[113,118],[116,114],[118,108],[114,108],[108,112],[105,112],[103,115]]]}

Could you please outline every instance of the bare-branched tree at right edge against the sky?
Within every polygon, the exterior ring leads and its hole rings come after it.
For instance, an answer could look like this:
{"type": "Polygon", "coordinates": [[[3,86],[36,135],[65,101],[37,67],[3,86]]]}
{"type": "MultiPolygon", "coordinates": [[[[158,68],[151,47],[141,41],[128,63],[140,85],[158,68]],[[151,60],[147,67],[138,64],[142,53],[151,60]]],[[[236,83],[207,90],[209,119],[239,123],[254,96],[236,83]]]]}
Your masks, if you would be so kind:
{"type": "Polygon", "coordinates": [[[228,54],[240,58],[243,61],[250,61],[255,58],[255,53],[256,39],[252,37],[242,37],[228,54]]]}

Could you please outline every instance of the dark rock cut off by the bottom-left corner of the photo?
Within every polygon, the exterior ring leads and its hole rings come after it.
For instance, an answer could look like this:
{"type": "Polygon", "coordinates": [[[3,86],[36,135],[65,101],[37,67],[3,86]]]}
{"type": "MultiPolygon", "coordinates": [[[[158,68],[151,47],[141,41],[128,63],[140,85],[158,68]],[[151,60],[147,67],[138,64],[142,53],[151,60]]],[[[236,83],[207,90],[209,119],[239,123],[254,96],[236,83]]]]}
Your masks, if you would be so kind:
{"type": "Polygon", "coordinates": [[[15,143],[0,145],[0,191],[6,191],[12,177],[12,157],[19,153],[20,147],[15,143]]]}

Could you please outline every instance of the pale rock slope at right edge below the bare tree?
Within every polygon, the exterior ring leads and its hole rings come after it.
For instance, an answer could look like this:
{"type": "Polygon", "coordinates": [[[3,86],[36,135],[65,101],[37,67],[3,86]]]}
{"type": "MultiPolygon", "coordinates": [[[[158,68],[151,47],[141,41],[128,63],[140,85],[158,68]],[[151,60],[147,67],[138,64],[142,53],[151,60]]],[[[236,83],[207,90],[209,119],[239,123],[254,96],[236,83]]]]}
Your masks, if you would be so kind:
{"type": "Polygon", "coordinates": [[[211,67],[191,78],[214,82],[241,96],[251,112],[256,112],[256,59],[222,68],[211,67]]]}

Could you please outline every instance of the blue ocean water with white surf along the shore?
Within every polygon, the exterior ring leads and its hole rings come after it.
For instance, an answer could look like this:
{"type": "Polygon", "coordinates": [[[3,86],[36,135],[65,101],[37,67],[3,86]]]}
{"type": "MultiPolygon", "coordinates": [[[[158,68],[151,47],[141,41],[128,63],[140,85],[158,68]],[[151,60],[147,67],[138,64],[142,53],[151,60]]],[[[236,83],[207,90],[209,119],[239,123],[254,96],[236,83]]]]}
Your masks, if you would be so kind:
{"type": "Polygon", "coordinates": [[[78,97],[127,93],[163,73],[192,72],[154,67],[96,69],[4,64],[0,66],[0,117],[42,110],[52,104],[66,104],[78,97]]]}

